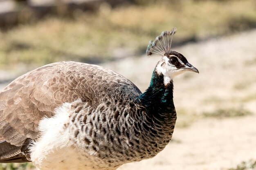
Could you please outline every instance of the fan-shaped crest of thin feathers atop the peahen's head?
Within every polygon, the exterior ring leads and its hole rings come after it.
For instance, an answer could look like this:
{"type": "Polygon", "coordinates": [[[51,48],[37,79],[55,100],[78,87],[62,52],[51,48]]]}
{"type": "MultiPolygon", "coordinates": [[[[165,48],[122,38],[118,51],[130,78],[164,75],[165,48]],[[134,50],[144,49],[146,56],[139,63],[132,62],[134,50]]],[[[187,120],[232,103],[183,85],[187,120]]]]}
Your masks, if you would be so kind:
{"type": "Polygon", "coordinates": [[[171,43],[173,40],[173,34],[176,32],[176,28],[171,31],[164,31],[161,35],[155,38],[155,41],[150,41],[147,48],[147,55],[161,55],[171,50],[171,43]]]}

